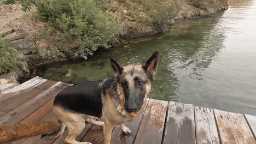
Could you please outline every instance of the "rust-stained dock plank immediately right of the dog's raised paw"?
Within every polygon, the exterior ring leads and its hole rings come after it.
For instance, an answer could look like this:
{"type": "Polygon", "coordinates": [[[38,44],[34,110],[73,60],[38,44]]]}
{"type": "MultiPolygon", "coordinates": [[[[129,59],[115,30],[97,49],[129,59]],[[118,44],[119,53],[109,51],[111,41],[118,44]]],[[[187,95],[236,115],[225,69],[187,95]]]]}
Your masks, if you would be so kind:
{"type": "Polygon", "coordinates": [[[168,102],[149,99],[134,143],[161,143],[168,102]]]}

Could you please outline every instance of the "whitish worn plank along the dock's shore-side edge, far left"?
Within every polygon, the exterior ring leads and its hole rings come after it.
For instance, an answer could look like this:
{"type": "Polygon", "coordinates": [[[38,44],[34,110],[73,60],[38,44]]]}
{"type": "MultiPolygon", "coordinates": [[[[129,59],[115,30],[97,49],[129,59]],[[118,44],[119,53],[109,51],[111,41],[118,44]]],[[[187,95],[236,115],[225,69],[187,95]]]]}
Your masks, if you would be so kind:
{"type": "Polygon", "coordinates": [[[19,86],[16,86],[12,89],[10,89],[7,92],[4,92],[3,94],[0,94],[0,105],[7,103],[9,100],[14,99],[16,97],[19,97],[19,95],[26,93],[27,91],[32,90],[34,87],[38,86],[40,83],[43,83],[47,80],[42,78],[34,78],[30,80],[30,83],[22,83],[19,86]]]}

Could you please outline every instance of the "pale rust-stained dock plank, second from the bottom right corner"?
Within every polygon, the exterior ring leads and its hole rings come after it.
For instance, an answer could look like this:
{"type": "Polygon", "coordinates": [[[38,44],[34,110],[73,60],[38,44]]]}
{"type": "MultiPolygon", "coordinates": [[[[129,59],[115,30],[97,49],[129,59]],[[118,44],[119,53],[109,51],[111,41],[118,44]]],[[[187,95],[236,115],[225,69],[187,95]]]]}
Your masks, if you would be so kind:
{"type": "Polygon", "coordinates": [[[255,143],[245,117],[238,113],[214,110],[220,139],[225,143],[255,143]]]}

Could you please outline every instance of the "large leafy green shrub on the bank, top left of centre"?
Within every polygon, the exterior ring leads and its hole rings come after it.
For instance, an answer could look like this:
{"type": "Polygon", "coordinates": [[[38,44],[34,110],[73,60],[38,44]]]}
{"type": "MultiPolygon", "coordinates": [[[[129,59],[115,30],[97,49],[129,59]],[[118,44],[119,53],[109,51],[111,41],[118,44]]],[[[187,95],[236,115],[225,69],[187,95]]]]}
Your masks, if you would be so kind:
{"type": "Polygon", "coordinates": [[[60,35],[65,43],[78,46],[79,57],[87,56],[99,47],[108,48],[123,28],[109,11],[97,8],[92,0],[70,2],[71,14],[62,14],[56,19],[63,33],[60,35]]]}

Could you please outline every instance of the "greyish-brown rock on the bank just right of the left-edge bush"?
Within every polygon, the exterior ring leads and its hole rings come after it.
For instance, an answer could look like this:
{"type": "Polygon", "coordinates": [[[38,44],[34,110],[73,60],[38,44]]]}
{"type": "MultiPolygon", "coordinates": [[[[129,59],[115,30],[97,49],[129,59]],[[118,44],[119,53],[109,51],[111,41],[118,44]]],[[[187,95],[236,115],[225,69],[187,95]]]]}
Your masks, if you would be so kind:
{"type": "Polygon", "coordinates": [[[23,54],[30,53],[34,45],[24,39],[14,40],[9,43],[14,46],[16,50],[21,51],[23,54]]]}

